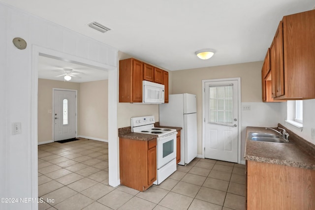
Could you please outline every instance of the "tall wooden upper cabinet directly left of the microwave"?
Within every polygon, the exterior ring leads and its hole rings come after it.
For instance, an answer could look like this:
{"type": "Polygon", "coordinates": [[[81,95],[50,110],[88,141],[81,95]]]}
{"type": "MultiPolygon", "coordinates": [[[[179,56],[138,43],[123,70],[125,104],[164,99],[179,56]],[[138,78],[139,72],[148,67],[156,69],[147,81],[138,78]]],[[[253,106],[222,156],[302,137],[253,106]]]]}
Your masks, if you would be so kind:
{"type": "Polygon", "coordinates": [[[142,102],[143,62],[119,61],[119,102],[142,102]]]}

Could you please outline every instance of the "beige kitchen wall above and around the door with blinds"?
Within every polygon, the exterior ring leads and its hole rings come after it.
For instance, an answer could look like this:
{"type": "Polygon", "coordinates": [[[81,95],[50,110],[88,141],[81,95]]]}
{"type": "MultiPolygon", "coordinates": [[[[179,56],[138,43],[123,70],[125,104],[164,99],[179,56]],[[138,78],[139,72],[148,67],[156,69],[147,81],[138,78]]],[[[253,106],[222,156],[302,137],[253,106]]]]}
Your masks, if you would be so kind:
{"type": "MultiPolygon", "coordinates": [[[[261,102],[262,61],[172,71],[172,94],[197,95],[198,154],[202,154],[202,80],[241,78],[242,102],[261,102]]],[[[242,152],[245,140],[242,139],[242,152]]],[[[242,155],[243,156],[243,155],[242,155]]]]}

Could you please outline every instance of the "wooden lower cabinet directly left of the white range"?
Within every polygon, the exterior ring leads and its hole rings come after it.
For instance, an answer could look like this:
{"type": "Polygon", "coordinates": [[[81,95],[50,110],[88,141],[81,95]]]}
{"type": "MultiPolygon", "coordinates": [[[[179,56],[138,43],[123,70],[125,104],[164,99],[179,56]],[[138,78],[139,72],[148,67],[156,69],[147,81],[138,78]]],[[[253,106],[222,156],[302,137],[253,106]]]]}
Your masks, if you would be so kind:
{"type": "Polygon", "coordinates": [[[139,191],[157,180],[157,140],[119,138],[120,181],[139,191]]]}

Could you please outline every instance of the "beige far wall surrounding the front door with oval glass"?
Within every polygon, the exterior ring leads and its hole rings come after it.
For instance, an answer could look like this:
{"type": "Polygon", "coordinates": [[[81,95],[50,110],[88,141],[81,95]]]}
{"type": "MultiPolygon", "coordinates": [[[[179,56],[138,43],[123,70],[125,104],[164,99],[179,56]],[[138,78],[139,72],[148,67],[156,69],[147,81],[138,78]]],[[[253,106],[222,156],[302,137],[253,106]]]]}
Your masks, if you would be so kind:
{"type": "MultiPolygon", "coordinates": [[[[80,84],[56,80],[38,79],[38,143],[53,141],[53,88],[78,90],[80,99],[80,84]]],[[[78,111],[80,106],[78,104],[78,111]]],[[[78,116],[78,127],[79,127],[78,116]]]]}

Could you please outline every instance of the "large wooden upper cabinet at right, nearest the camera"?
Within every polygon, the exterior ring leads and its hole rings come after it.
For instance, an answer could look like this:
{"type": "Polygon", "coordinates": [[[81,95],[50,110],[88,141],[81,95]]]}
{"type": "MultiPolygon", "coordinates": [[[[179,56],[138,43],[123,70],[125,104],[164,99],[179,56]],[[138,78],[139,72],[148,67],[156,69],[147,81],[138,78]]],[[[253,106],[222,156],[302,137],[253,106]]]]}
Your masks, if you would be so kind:
{"type": "Polygon", "coordinates": [[[315,98],[314,37],[315,10],[284,16],[280,22],[275,35],[276,78],[272,74],[275,100],[315,98]]]}

